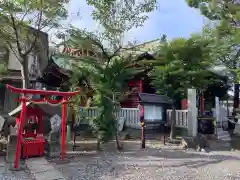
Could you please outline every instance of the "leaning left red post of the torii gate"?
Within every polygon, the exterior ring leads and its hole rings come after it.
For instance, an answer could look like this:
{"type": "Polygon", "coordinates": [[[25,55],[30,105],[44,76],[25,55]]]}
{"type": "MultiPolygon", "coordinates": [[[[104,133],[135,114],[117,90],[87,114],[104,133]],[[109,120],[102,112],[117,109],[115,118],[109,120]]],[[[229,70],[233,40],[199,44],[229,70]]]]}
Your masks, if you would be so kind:
{"type": "Polygon", "coordinates": [[[26,102],[27,99],[26,97],[22,98],[22,110],[20,114],[20,125],[17,133],[17,144],[16,144],[16,152],[15,152],[15,159],[14,159],[14,168],[18,169],[19,167],[19,161],[20,161],[20,156],[21,156],[21,144],[22,144],[22,132],[23,132],[23,127],[24,127],[24,122],[25,122],[25,117],[26,117],[26,102]]]}

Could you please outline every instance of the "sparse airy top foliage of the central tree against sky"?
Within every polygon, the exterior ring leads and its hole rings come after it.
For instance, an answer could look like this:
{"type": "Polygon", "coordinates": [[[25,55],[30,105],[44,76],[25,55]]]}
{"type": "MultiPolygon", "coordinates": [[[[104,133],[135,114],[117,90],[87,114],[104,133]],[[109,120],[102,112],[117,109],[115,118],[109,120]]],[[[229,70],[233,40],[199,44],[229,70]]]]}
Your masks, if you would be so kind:
{"type": "Polygon", "coordinates": [[[157,7],[157,0],[87,0],[94,8],[93,19],[103,27],[104,40],[115,51],[122,44],[124,33],[142,26],[148,13],[157,7]]]}

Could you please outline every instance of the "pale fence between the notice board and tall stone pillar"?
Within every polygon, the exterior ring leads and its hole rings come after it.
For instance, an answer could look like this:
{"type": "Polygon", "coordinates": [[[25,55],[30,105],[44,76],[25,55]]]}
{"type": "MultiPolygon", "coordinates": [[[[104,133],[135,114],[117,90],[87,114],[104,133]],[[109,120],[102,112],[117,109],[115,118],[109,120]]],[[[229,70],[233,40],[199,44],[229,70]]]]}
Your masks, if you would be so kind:
{"type": "MultiPolygon", "coordinates": [[[[188,127],[188,110],[176,110],[176,127],[187,128],[188,127]]],[[[167,110],[167,125],[171,125],[173,110],[167,110]]]]}

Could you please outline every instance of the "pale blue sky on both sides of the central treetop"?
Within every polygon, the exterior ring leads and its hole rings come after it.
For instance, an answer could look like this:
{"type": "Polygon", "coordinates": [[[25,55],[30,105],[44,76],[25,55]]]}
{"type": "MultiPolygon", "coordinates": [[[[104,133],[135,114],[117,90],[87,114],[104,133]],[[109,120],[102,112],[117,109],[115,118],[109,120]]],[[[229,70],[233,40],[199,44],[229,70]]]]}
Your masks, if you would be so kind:
{"type": "MultiPolygon", "coordinates": [[[[163,34],[166,34],[168,39],[189,37],[191,33],[200,32],[206,22],[197,9],[188,7],[185,0],[158,0],[158,4],[159,8],[149,14],[144,26],[128,32],[125,41],[143,43],[157,39],[163,34]]],[[[91,31],[99,29],[91,17],[93,9],[85,0],[71,0],[68,10],[69,20],[74,26],[91,31]]]]}

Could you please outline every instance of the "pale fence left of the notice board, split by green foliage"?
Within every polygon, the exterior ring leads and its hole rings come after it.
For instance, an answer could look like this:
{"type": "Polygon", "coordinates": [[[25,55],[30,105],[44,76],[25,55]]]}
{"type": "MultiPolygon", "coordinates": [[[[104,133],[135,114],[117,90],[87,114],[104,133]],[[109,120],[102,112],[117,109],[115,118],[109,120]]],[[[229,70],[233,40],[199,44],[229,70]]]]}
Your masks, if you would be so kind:
{"type": "MultiPolygon", "coordinates": [[[[81,120],[81,123],[86,124],[88,123],[87,118],[94,118],[98,114],[97,107],[89,107],[89,108],[80,108],[80,116],[78,117],[81,120]]],[[[123,117],[125,119],[125,126],[130,128],[139,129],[140,124],[140,116],[139,116],[139,109],[138,108],[121,108],[119,112],[116,114],[117,118],[123,117]]]]}

